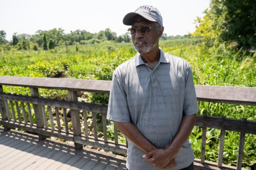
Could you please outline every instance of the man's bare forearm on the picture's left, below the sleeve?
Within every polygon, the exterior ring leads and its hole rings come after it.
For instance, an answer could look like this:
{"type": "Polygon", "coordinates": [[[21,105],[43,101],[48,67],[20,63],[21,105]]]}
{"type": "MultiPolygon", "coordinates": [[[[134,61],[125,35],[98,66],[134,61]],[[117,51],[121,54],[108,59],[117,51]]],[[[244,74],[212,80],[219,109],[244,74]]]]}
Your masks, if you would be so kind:
{"type": "Polygon", "coordinates": [[[116,122],[117,128],[128,138],[136,147],[144,153],[148,153],[157,149],[150,141],[148,141],[136,128],[132,122],[116,122]]]}

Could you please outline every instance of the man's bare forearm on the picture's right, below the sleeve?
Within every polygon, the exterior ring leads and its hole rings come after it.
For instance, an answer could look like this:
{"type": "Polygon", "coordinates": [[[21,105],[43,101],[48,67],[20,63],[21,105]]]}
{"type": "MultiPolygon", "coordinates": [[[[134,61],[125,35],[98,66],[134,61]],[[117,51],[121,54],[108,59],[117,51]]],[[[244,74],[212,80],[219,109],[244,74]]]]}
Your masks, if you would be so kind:
{"type": "Polygon", "coordinates": [[[166,149],[170,149],[178,153],[178,150],[181,148],[181,146],[189,137],[196,123],[196,118],[197,118],[196,114],[183,116],[181,125],[179,127],[177,134],[175,135],[174,139],[171,141],[171,144],[166,149]]]}

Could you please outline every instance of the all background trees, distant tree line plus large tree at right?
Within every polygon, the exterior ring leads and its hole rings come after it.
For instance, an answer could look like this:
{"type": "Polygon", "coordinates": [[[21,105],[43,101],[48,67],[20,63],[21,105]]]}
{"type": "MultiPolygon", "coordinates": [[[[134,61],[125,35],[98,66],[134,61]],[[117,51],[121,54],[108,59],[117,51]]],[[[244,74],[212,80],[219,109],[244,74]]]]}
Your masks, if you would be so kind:
{"type": "MultiPolygon", "coordinates": [[[[203,37],[206,45],[225,45],[239,50],[255,51],[256,49],[256,0],[211,0],[210,7],[204,11],[204,17],[197,17],[196,31],[184,36],[167,36],[161,39],[203,37]]],[[[52,49],[59,45],[94,44],[104,41],[131,42],[126,32],[117,36],[109,28],[98,33],[86,30],[75,30],[68,34],[61,28],[38,30],[34,35],[14,33],[12,40],[5,39],[6,33],[0,30],[0,45],[10,49],[34,50],[41,47],[52,49]],[[32,46],[31,46],[32,45],[32,46]]]]}

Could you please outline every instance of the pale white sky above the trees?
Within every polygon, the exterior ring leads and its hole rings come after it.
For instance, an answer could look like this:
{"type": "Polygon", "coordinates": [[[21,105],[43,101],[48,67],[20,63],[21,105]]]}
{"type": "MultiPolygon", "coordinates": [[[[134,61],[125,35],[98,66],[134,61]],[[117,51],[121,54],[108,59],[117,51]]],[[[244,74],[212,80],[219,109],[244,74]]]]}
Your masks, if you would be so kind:
{"type": "Polygon", "coordinates": [[[33,35],[53,28],[65,33],[109,28],[120,36],[130,27],[123,25],[123,17],[141,5],[152,5],[161,12],[168,36],[183,36],[195,31],[194,20],[204,16],[210,0],[0,0],[0,30],[6,32],[8,41],[15,32],[33,35]]]}

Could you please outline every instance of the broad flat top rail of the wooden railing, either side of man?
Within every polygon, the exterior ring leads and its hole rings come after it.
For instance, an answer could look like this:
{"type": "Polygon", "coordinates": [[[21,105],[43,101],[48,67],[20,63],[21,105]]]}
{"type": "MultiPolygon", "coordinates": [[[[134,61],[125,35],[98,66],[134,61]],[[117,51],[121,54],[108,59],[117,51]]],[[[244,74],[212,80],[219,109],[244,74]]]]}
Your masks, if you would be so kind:
{"type": "MultiPolygon", "coordinates": [[[[0,76],[0,85],[109,93],[111,81],[0,76]]],[[[255,87],[195,85],[198,101],[256,105],[255,87]]]]}

